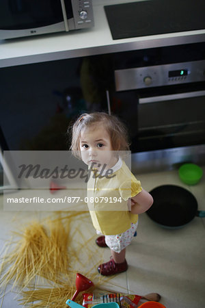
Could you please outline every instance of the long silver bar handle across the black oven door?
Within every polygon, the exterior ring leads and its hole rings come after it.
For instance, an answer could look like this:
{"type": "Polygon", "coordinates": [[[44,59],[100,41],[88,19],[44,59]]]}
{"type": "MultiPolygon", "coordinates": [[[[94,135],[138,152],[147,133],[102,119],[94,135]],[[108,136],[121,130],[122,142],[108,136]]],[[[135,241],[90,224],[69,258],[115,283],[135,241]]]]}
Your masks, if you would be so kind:
{"type": "Polygon", "coordinates": [[[156,103],[159,101],[174,101],[176,99],[187,99],[189,97],[202,97],[204,95],[205,95],[205,90],[178,93],[178,94],[161,95],[159,97],[144,97],[144,98],[139,99],[139,104],[156,103]]]}

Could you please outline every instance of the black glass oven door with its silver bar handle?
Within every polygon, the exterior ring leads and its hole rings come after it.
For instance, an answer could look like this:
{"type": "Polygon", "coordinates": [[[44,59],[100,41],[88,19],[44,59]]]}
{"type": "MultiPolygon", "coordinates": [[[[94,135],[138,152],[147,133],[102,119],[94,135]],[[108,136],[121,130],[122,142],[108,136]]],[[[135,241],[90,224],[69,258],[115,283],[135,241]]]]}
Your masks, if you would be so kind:
{"type": "MultiPolygon", "coordinates": [[[[203,144],[205,141],[205,90],[187,86],[161,95],[139,94],[139,151],[203,144]]],[[[204,88],[204,87],[203,87],[204,88]]]]}

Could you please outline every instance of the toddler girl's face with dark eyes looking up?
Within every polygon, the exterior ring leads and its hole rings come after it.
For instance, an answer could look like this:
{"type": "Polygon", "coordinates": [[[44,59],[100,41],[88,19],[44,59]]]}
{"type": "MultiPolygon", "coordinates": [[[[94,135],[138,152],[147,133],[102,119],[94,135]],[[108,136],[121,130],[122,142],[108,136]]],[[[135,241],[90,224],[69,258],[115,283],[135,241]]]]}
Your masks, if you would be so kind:
{"type": "Polygon", "coordinates": [[[80,149],[83,162],[89,166],[93,164],[92,166],[98,168],[98,170],[104,164],[106,164],[105,169],[109,169],[118,162],[112,149],[109,133],[102,123],[83,129],[80,149]]]}

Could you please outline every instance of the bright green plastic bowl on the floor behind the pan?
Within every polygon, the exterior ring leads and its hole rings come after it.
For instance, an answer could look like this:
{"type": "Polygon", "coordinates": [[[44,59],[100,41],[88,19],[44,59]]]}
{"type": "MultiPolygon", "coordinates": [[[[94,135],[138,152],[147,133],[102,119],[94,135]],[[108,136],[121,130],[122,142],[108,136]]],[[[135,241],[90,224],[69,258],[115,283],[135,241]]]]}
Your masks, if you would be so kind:
{"type": "Polygon", "coordinates": [[[184,164],[180,166],[178,175],[182,182],[188,185],[197,184],[202,178],[202,168],[195,164],[184,164]]]}

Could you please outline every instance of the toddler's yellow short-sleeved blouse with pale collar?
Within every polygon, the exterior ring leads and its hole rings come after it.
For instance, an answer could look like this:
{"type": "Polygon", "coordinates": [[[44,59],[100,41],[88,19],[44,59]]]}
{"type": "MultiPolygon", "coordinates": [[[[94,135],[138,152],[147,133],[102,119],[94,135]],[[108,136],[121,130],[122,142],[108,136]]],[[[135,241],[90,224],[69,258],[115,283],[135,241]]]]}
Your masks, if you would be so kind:
{"type": "Polygon", "coordinates": [[[140,181],[122,159],[111,169],[113,174],[101,179],[92,171],[87,182],[87,205],[92,223],[104,235],[122,233],[131,227],[131,222],[137,222],[138,215],[128,211],[127,203],[128,198],[141,192],[140,181]]]}

